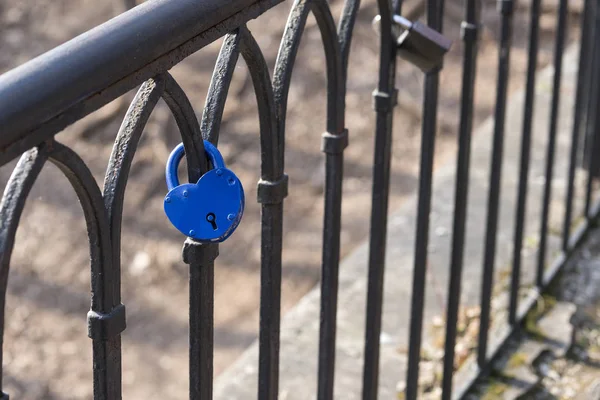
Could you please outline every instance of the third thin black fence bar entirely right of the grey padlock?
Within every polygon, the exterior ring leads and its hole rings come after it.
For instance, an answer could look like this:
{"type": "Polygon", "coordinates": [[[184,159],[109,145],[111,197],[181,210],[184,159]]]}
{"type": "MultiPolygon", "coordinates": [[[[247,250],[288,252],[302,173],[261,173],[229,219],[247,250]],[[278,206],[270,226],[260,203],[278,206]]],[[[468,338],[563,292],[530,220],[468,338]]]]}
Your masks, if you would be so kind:
{"type": "Polygon", "coordinates": [[[529,181],[529,157],[531,154],[531,129],[535,112],[535,76],[539,48],[541,0],[531,2],[529,22],[529,55],[527,61],[527,83],[525,89],[525,105],[523,107],[523,134],[521,136],[521,164],[519,169],[519,189],[517,193],[517,212],[515,215],[515,232],[513,247],[513,267],[510,282],[510,302],[508,321],[514,324],[517,318],[519,287],[521,286],[521,249],[525,230],[525,214],[527,209],[527,189],[529,181]]]}

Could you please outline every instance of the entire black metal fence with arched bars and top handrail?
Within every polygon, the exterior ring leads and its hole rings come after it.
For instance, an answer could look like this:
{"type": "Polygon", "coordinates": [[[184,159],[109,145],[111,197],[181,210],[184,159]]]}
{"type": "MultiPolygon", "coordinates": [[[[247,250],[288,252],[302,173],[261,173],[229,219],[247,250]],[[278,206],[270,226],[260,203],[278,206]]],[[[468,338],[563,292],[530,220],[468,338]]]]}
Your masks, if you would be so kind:
{"type": "MultiPolygon", "coordinates": [[[[278,397],[280,297],[282,269],[283,200],[287,195],[284,173],[285,118],[291,73],[303,28],[313,13],[320,28],[326,54],[327,132],[322,137],[326,159],[326,180],[321,279],[321,318],[318,358],[318,398],[332,399],[336,346],[336,310],[340,224],[343,178],[343,151],[348,144],[344,123],[346,75],[354,23],[359,0],[346,0],[336,28],[325,0],[297,0],[292,5],[271,78],[261,49],[245,23],[258,17],[282,0],[150,0],[114,18],[68,43],[0,76],[0,162],[5,165],[21,157],[4,192],[0,208],[0,329],[4,328],[4,306],[10,257],[19,218],[32,185],[47,161],[55,164],[69,179],[83,207],[91,254],[91,310],[88,331],[93,346],[94,398],[121,398],[121,338],[125,329],[125,306],[121,304],[120,248],[121,218],[128,173],[144,125],[163,99],[171,109],[185,146],[190,181],[197,181],[207,170],[203,139],[218,143],[222,112],[234,67],[241,55],[254,84],[260,116],[261,179],[258,201],[262,204],[261,305],[260,305],[260,399],[278,397]],[[199,122],[186,94],[167,72],[181,60],[225,36],[206,105],[199,122]],[[97,185],[82,159],[55,140],[68,125],[94,112],[115,98],[140,85],[121,130],[106,170],[103,190],[97,185]]],[[[395,69],[398,45],[394,16],[401,14],[401,1],[390,4],[378,0],[380,13],[379,85],[373,93],[376,113],[375,154],[373,162],[370,256],[368,262],[368,300],[365,324],[365,359],[362,397],[377,398],[379,338],[382,318],[382,286],[385,269],[388,190],[392,142],[393,110],[397,103],[395,69]]],[[[458,164],[450,282],[447,302],[443,398],[463,397],[471,383],[455,390],[454,351],[461,293],[463,249],[470,159],[470,139],[474,113],[474,87],[477,45],[480,32],[480,3],[465,0],[462,39],[464,41],[460,124],[458,127],[458,164]]],[[[527,188],[534,111],[535,78],[539,48],[540,0],[532,0],[529,25],[529,55],[525,110],[522,130],[519,190],[515,215],[514,253],[510,285],[508,324],[510,332],[501,345],[488,348],[490,302],[494,278],[502,149],[507,105],[509,61],[511,53],[514,0],[499,0],[501,20],[498,82],[487,232],[483,260],[481,319],[478,343],[477,375],[490,372],[491,362],[502,344],[521,325],[525,313],[534,304],[519,304],[521,249],[524,240],[527,188]]],[[[443,0],[428,0],[427,23],[442,31],[443,0]]],[[[555,171],[557,114],[560,108],[561,67],[565,47],[567,0],[560,0],[554,50],[554,80],[551,121],[548,135],[545,184],[540,218],[540,244],[536,285],[540,293],[556,275],[569,254],[594,223],[598,207],[593,205],[592,188],[598,157],[596,143],[600,113],[599,75],[600,3],[585,0],[581,21],[581,57],[576,104],[572,123],[568,188],[565,198],[562,253],[546,268],[546,237],[555,171]],[[582,145],[582,138],[585,144],[582,145]],[[587,149],[586,152],[584,150],[587,149]],[[585,153],[588,173],[585,221],[572,229],[575,170],[585,153]]],[[[410,345],[406,398],[418,393],[421,333],[424,319],[424,295],[431,211],[433,155],[436,136],[440,68],[425,75],[422,115],[421,165],[418,189],[417,230],[414,257],[414,281],[410,321],[410,345]]],[[[351,133],[350,133],[351,134],[351,133]]],[[[183,250],[190,266],[190,398],[210,399],[213,381],[213,268],[218,245],[201,244],[188,239],[183,250]]],[[[0,353],[1,357],[1,353],[0,353]]],[[[1,363],[0,363],[1,365],[1,363]]],[[[1,376],[1,374],[0,374],[1,376]]],[[[308,394],[307,394],[308,396],[308,394]]],[[[8,395],[4,394],[3,399],[8,395]]]]}

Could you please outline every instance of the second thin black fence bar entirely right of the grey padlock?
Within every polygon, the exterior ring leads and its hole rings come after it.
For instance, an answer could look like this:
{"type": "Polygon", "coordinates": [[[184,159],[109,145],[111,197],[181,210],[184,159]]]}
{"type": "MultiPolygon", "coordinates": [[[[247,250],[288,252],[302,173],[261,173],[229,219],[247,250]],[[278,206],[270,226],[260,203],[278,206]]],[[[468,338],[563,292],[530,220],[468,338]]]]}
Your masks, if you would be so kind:
{"type": "Polygon", "coordinates": [[[481,285],[481,319],[479,328],[479,348],[477,354],[477,362],[480,366],[485,365],[488,329],[490,327],[490,306],[492,297],[492,284],[494,280],[494,264],[496,258],[496,234],[498,228],[498,211],[500,208],[504,122],[506,117],[506,92],[508,88],[510,47],[512,42],[513,1],[499,0],[498,9],[502,14],[502,27],[500,31],[494,142],[492,147],[490,188],[488,194],[488,215],[485,234],[485,251],[483,258],[483,278],[481,285]]]}

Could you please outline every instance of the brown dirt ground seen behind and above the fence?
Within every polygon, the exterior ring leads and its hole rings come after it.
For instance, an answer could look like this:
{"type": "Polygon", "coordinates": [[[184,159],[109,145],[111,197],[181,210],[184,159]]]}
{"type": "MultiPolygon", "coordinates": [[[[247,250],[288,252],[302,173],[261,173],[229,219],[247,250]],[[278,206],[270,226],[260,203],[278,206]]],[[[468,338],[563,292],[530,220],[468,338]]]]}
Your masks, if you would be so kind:
{"type": "MultiPolygon", "coordinates": [[[[330,1],[337,18],[342,1],[330,1]]],[[[414,5],[408,1],[409,6],[414,5]]],[[[272,67],[291,2],[249,24],[272,67]]],[[[540,66],[553,46],[555,3],[542,17],[540,66]]],[[[571,18],[577,25],[580,7],[571,18]]],[[[123,11],[120,1],[4,0],[0,2],[0,73],[51,49],[123,11]]],[[[515,14],[510,90],[523,86],[529,14],[515,14]]],[[[371,20],[374,0],[363,1],[350,59],[346,124],[342,255],[368,235],[378,49],[371,20]]],[[[483,4],[475,125],[493,112],[497,68],[498,13],[483,4]]],[[[440,89],[436,163],[455,149],[461,82],[462,3],[447,1],[445,29],[455,40],[446,58],[440,89]]],[[[575,35],[571,35],[574,40],[575,35]]],[[[319,279],[323,219],[325,76],[319,31],[311,17],[294,69],[286,133],[286,172],[282,312],[319,279]],[[309,118],[310,117],[310,118],[309,118]]],[[[201,113],[221,41],[176,66],[172,73],[201,113]]],[[[423,77],[401,62],[400,106],[396,109],[390,209],[417,185],[420,103],[423,77]]],[[[75,149],[102,182],[112,142],[132,93],[58,135],[75,149]]],[[[236,233],[221,246],[215,277],[215,372],[218,374],[256,338],[258,330],[260,209],[254,199],[259,175],[256,101],[240,61],[224,114],[219,147],[227,165],[242,179],[247,208],[236,233]]],[[[187,396],[187,270],[181,261],[183,237],[162,211],[166,193],[164,163],[178,143],[167,107],[159,104],[146,127],[131,171],[123,226],[123,302],[128,328],[123,334],[123,388],[126,398],[187,396]]],[[[4,186],[14,163],[0,168],[4,186]]],[[[91,397],[89,255],[83,215],[67,181],[48,166],[29,198],[21,221],[8,288],[4,340],[5,390],[16,399],[91,397]]],[[[315,338],[316,340],[316,338],[315,338]]]]}

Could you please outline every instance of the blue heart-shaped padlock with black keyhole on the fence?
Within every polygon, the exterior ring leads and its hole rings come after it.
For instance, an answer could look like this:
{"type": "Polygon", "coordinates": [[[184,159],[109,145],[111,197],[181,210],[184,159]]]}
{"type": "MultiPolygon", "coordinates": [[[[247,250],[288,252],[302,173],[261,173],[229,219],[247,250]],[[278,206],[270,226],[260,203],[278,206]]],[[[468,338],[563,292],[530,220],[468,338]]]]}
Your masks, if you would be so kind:
{"type": "Polygon", "coordinates": [[[222,242],[238,227],[244,214],[242,182],[225,168],[219,150],[204,141],[204,150],[213,169],[197,183],[179,184],[177,167],[184,156],[183,143],[169,156],[164,208],[167,217],[181,233],[199,242],[222,242]]]}

